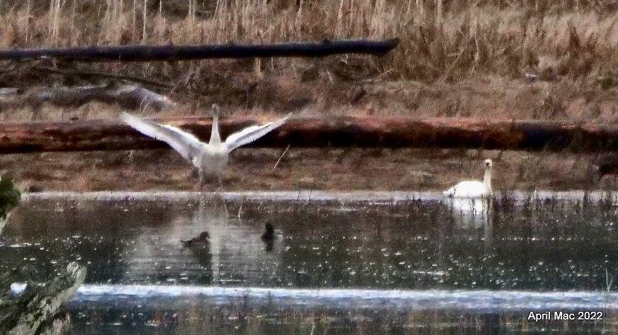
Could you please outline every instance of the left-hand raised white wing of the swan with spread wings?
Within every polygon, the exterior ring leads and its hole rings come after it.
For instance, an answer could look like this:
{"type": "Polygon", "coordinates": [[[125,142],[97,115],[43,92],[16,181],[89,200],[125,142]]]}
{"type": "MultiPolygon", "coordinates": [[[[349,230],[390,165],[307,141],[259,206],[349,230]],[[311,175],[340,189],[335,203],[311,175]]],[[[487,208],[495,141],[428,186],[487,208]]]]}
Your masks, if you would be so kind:
{"type": "Polygon", "coordinates": [[[188,161],[193,161],[193,157],[195,157],[203,147],[197,137],[189,134],[189,132],[184,132],[178,129],[177,127],[173,127],[171,125],[159,125],[159,123],[154,123],[145,118],[138,118],[137,116],[133,116],[128,113],[120,114],[120,119],[138,132],[141,132],[142,134],[150,136],[156,140],[166,142],[188,161]]]}

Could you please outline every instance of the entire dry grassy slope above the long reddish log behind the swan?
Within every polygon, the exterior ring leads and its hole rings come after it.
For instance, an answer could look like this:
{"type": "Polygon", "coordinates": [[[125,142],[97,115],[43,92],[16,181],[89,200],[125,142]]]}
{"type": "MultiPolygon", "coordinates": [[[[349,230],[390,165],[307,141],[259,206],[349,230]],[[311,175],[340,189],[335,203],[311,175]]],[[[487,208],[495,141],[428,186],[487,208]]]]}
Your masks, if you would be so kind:
{"type": "MultiPolygon", "coordinates": [[[[575,119],[618,113],[612,1],[128,1],[0,5],[0,47],[401,38],[382,57],[95,64],[174,85],[191,110],[575,119]],[[35,5],[36,4],[36,5],[35,5]],[[191,5],[191,6],[189,6],[191,5]],[[526,74],[536,74],[530,84],[526,74]]],[[[57,66],[64,66],[62,62],[57,66]]],[[[90,84],[10,64],[0,86],[90,84]]],[[[99,108],[99,109],[96,109],[99,108]]],[[[82,108],[82,117],[114,115],[82,108]]],[[[201,112],[198,112],[201,113],[201,112]]],[[[28,113],[2,115],[26,118],[28,113]]],[[[50,111],[43,118],[56,118],[50,111]]]]}

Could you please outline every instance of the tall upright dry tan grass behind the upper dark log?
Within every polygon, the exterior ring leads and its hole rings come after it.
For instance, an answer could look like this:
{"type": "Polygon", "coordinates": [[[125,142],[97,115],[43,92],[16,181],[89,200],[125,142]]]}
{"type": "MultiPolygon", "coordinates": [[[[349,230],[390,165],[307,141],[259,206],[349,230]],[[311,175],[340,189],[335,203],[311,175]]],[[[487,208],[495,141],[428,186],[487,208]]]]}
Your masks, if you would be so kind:
{"type": "MultiPolygon", "coordinates": [[[[524,72],[596,78],[618,66],[618,5],[612,1],[51,0],[48,7],[33,2],[4,5],[0,47],[398,36],[398,50],[365,59],[363,66],[420,81],[475,74],[519,78],[524,72]]],[[[214,63],[220,62],[201,65],[214,63]]],[[[302,64],[274,59],[262,67],[276,72],[302,64]]],[[[166,67],[145,65],[142,71],[159,74],[166,67]]]]}

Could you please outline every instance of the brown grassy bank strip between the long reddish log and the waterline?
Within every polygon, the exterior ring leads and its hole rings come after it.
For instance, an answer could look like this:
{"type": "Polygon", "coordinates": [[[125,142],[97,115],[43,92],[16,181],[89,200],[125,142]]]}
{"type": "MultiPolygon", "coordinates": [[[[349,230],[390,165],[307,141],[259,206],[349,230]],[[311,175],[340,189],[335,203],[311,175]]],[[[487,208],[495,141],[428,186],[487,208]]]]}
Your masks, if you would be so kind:
{"type": "MultiPolygon", "coordinates": [[[[618,186],[614,176],[597,183],[588,165],[592,157],[571,154],[291,148],[273,170],[279,157],[278,149],[234,152],[223,178],[225,190],[444,190],[461,180],[481,179],[485,158],[495,161],[492,182],[498,191],[618,186]]],[[[191,165],[172,150],[12,154],[0,161],[0,174],[11,174],[22,189],[45,191],[197,189],[191,165]]]]}

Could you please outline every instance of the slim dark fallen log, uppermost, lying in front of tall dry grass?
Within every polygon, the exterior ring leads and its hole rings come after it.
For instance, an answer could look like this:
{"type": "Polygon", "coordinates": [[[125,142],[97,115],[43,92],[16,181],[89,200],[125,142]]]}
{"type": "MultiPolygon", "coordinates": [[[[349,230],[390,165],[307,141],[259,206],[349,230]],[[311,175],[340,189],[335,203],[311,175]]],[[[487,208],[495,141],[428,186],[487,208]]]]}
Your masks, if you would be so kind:
{"type": "Polygon", "coordinates": [[[384,55],[399,40],[324,40],[322,42],[286,42],[269,45],[125,45],[69,47],[65,49],[0,50],[0,59],[22,60],[40,57],[82,62],[149,62],[206,58],[251,57],[324,57],[335,54],[384,55]]]}

